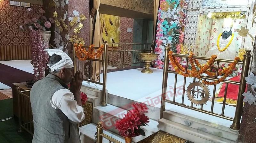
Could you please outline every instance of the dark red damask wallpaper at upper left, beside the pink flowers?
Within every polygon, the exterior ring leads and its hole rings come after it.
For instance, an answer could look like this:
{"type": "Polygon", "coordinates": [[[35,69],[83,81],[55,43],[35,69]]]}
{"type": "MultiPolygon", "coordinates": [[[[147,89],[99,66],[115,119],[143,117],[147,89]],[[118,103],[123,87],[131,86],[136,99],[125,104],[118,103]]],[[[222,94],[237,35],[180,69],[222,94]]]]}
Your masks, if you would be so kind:
{"type": "Polygon", "coordinates": [[[36,17],[42,5],[31,4],[31,8],[33,11],[28,13],[25,7],[11,6],[9,0],[0,2],[0,46],[29,46],[28,31],[20,31],[19,26],[36,17]]]}

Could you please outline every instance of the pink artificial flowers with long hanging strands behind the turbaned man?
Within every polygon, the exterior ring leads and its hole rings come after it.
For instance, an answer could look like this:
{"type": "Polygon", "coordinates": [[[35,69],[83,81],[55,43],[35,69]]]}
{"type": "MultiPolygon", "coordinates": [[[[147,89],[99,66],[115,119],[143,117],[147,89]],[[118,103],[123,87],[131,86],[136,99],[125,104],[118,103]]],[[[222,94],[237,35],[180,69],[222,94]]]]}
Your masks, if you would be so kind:
{"type": "MultiPolygon", "coordinates": [[[[27,12],[33,11],[32,8],[28,8],[27,12]]],[[[44,70],[48,62],[48,55],[44,52],[45,48],[48,48],[48,44],[44,42],[42,31],[50,31],[53,23],[53,19],[47,19],[43,14],[45,11],[43,9],[38,10],[39,15],[33,19],[26,19],[23,26],[20,26],[21,30],[30,31],[31,40],[31,64],[34,67],[34,79],[28,80],[27,85],[33,85],[37,80],[43,79],[44,70]]]]}

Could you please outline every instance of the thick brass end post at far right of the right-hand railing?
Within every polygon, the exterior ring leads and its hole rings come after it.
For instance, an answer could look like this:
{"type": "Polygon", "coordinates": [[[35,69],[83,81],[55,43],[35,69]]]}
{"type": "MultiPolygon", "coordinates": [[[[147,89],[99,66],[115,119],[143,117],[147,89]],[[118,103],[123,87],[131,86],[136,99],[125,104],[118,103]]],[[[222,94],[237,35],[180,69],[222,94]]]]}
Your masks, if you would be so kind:
{"type": "Polygon", "coordinates": [[[245,77],[248,76],[250,60],[252,57],[252,55],[250,54],[251,50],[245,50],[245,51],[246,51],[246,53],[244,55],[244,61],[243,61],[244,63],[243,63],[243,67],[242,67],[241,80],[240,80],[237,103],[236,103],[236,112],[235,112],[233,124],[230,126],[230,128],[233,130],[239,130],[239,128],[240,128],[240,124],[241,124],[240,120],[241,120],[241,115],[242,115],[242,110],[243,110],[243,95],[242,94],[245,91],[245,87],[246,87],[245,77]]]}

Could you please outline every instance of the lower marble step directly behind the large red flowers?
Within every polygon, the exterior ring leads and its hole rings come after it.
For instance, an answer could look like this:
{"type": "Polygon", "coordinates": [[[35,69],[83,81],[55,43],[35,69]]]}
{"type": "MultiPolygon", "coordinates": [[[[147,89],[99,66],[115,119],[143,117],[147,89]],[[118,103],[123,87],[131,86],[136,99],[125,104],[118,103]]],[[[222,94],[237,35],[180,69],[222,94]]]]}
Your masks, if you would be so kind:
{"type": "MultiPolygon", "coordinates": [[[[93,123],[103,122],[104,128],[107,130],[114,132],[118,134],[118,131],[115,129],[115,123],[116,120],[119,120],[124,117],[124,114],[126,114],[127,110],[121,109],[119,107],[113,106],[111,104],[108,104],[105,107],[97,106],[93,109],[93,123]]],[[[147,138],[148,136],[158,132],[158,122],[152,119],[149,119],[150,123],[148,123],[148,126],[141,127],[144,131],[146,136],[138,136],[134,137],[134,142],[139,142],[142,139],[147,138]]]]}

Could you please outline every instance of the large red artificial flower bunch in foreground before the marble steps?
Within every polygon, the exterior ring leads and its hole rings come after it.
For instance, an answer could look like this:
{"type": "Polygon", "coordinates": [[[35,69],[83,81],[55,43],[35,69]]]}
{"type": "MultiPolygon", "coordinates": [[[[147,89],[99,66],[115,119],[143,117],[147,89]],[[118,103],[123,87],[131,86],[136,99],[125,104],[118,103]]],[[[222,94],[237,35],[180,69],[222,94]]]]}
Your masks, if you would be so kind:
{"type": "Polygon", "coordinates": [[[145,136],[145,132],[141,129],[142,126],[148,125],[149,118],[145,115],[148,113],[148,108],[143,103],[132,104],[133,109],[124,115],[124,118],[116,121],[116,129],[124,139],[136,137],[139,135],[145,136]]]}

